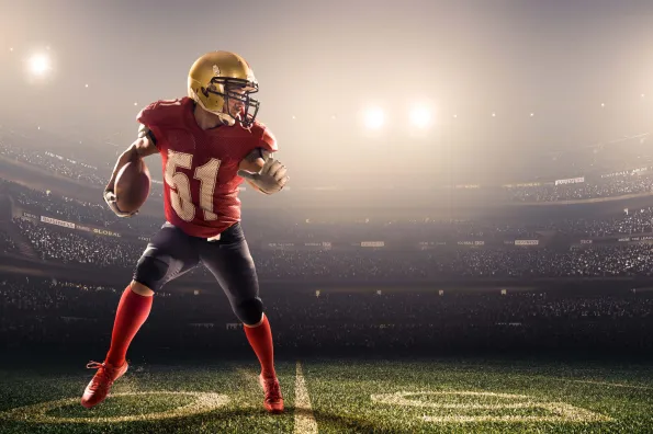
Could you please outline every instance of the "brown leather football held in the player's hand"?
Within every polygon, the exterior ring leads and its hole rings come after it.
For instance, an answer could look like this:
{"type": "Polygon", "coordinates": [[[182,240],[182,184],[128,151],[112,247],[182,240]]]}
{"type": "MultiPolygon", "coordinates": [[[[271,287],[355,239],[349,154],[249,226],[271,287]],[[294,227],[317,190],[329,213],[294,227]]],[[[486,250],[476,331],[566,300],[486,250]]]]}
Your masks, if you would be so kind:
{"type": "Polygon", "coordinates": [[[149,195],[150,185],[149,170],[140,157],[126,163],[115,179],[114,193],[119,209],[123,213],[138,210],[149,195]]]}

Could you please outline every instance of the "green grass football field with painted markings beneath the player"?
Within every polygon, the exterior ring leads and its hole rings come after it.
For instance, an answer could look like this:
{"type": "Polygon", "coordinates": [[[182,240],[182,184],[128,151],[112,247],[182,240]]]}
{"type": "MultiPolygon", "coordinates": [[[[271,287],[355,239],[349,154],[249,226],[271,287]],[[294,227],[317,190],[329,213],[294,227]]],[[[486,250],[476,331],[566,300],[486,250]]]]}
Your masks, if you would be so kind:
{"type": "Polygon", "coordinates": [[[278,363],[269,415],[256,365],[133,365],[102,404],[83,366],[0,370],[0,433],[651,433],[653,367],[514,361],[278,363]]]}

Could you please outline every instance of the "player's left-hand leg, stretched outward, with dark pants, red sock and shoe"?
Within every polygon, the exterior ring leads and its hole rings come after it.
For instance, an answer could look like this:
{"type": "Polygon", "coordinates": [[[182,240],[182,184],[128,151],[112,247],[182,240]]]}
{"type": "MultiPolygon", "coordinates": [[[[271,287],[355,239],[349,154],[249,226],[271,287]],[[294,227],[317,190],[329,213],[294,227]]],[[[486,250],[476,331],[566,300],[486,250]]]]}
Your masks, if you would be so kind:
{"type": "Polygon", "coordinates": [[[147,245],[138,260],[134,279],[119,302],[111,347],[104,363],[91,362],[87,365],[99,370],[85,390],[83,407],[91,408],[102,402],[113,381],[127,370],[127,349],[149,316],[155,292],[198,265],[200,259],[192,244],[191,237],[166,224],[147,245]]]}

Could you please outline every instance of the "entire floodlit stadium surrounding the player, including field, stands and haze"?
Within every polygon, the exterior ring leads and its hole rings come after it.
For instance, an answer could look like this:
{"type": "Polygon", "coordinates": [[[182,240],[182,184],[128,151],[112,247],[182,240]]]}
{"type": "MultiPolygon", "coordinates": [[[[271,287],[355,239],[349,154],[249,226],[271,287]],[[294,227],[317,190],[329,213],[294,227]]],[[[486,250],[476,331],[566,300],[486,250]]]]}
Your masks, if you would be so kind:
{"type": "Polygon", "coordinates": [[[0,18],[1,433],[653,431],[653,4],[64,3],[0,18]],[[235,187],[284,411],[196,263],[83,408],[182,204],[161,144],[137,214],[108,181],[217,49],[256,71],[292,178],[235,187]]]}

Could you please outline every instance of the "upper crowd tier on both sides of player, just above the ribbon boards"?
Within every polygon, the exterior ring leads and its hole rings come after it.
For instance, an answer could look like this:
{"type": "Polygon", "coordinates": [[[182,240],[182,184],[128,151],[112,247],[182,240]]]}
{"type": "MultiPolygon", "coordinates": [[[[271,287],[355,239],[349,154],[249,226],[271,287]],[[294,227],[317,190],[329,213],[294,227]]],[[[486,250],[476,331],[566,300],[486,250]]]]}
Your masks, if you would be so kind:
{"type": "MultiPolygon", "coordinates": [[[[40,192],[0,179],[0,194],[12,196],[15,204],[34,215],[81,222],[113,231],[130,231],[148,237],[162,224],[164,217],[138,215],[136,218],[117,218],[99,198],[97,203],[82,202],[48,192],[40,192]]],[[[373,213],[370,213],[373,215],[373,213]]],[[[360,221],[326,221],[314,210],[314,218],[300,218],[288,212],[275,213],[245,209],[244,228],[250,240],[345,241],[351,239],[412,239],[460,240],[469,238],[500,239],[504,237],[537,238],[538,231],[556,230],[565,235],[605,237],[610,235],[644,233],[653,231],[653,208],[631,209],[608,217],[554,219],[526,222],[506,220],[442,220],[429,217],[420,219],[368,218],[360,221]]]]}

